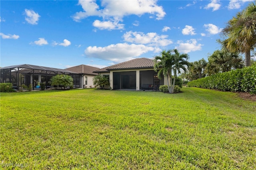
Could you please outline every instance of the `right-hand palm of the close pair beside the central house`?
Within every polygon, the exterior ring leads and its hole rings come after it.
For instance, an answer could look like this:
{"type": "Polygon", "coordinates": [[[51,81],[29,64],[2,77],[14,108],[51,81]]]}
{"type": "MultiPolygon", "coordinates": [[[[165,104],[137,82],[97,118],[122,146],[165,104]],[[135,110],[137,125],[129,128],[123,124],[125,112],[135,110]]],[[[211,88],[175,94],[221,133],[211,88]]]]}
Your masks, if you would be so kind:
{"type": "Polygon", "coordinates": [[[175,80],[177,77],[177,73],[180,73],[181,70],[183,70],[185,73],[187,72],[187,67],[189,65],[189,62],[187,61],[189,56],[188,54],[180,54],[178,49],[173,49],[172,52],[172,58],[174,59],[174,64],[172,67],[173,73],[174,73],[174,80],[172,85],[172,93],[174,93],[174,86],[175,86],[175,80]]]}

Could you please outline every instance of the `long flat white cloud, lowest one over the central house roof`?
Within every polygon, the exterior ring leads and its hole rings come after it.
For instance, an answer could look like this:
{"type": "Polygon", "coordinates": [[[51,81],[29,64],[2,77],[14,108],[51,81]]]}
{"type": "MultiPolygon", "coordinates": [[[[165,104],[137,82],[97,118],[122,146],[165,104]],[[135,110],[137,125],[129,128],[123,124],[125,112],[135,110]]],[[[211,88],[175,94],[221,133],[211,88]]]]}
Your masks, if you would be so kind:
{"type": "Polygon", "coordinates": [[[104,60],[109,60],[114,63],[128,61],[147,53],[149,51],[160,52],[161,49],[157,47],[149,47],[146,45],[136,45],[128,43],[111,44],[106,47],[90,46],[85,49],[87,57],[94,57],[104,60]]]}

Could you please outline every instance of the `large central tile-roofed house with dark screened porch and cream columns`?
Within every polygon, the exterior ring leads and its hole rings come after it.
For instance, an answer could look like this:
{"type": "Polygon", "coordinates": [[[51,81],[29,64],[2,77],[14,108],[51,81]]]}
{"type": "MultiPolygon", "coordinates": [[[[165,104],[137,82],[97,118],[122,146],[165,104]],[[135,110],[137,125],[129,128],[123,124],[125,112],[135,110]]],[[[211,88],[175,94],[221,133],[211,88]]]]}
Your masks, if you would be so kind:
{"type": "Polygon", "coordinates": [[[167,78],[157,76],[154,60],[136,58],[116,65],[93,71],[109,77],[106,89],[154,90],[160,85],[167,85],[167,78]]]}

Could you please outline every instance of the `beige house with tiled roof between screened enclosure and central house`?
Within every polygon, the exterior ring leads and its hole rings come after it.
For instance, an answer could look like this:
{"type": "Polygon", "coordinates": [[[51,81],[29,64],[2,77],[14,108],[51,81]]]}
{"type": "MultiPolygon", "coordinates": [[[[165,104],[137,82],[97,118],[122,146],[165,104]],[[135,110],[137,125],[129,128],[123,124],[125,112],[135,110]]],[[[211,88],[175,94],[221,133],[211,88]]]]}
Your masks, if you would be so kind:
{"type": "Polygon", "coordinates": [[[74,86],[81,88],[90,88],[94,87],[92,81],[93,77],[98,75],[98,73],[94,73],[93,71],[98,69],[100,68],[82,64],[67,68],[66,70],[78,73],[80,75],[79,77],[76,77],[76,79],[74,79],[74,86]]]}

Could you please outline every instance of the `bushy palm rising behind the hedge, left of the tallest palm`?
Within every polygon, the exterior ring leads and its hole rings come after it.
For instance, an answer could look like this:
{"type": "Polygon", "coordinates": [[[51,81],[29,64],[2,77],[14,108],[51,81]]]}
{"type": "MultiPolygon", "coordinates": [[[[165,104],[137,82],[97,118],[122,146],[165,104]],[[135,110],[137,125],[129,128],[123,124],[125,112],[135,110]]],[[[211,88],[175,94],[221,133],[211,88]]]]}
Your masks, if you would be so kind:
{"type": "Polygon", "coordinates": [[[214,53],[208,57],[208,60],[207,71],[209,75],[244,67],[242,57],[240,57],[238,53],[225,50],[214,51],[214,53]]]}

